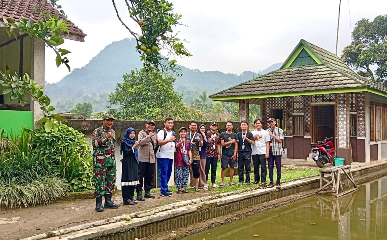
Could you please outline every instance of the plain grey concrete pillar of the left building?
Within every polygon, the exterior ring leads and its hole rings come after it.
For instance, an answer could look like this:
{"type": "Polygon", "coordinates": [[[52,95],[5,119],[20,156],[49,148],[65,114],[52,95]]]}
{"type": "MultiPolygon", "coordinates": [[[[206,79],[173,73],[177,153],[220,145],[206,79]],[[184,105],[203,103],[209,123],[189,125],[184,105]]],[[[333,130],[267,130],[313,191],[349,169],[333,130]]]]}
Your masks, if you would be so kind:
{"type": "MultiPolygon", "coordinates": [[[[31,78],[41,86],[45,86],[45,45],[41,41],[31,39],[31,78]]],[[[51,96],[52,97],[52,96],[51,96]]],[[[40,109],[37,102],[31,101],[31,111],[34,112],[34,128],[38,127],[35,123],[44,117],[44,112],[40,109]]]]}

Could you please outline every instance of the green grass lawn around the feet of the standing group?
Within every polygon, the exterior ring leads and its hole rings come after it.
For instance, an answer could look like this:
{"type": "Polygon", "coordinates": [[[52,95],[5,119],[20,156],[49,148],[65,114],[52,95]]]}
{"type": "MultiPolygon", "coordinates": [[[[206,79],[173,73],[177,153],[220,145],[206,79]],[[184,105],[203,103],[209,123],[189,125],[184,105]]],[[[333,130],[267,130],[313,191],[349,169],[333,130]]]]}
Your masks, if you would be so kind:
{"type": "MultiPolygon", "coordinates": [[[[290,181],[294,181],[294,180],[297,180],[297,179],[300,179],[300,178],[305,178],[305,177],[312,177],[312,176],[315,176],[315,175],[319,175],[320,174],[320,170],[321,168],[288,168],[288,167],[283,167],[282,168],[282,176],[281,176],[281,183],[286,183],[286,182],[290,182],[290,181]]],[[[235,168],[235,171],[237,172],[238,171],[238,168],[235,168]]],[[[216,171],[216,184],[219,185],[221,183],[221,167],[220,167],[220,163],[218,163],[217,165],[217,171],[216,171]]],[[[276,171],[276,168],[274,167],[274,183],[276,182],[276,177],[277,176],[277,171],[276,171]]],[[[238,185],[238,175],[234,176],[233,177],[233,183],[235,183],[235,186],[231,187],[229,186],[229,177],[225,177],[224,178],[224,183],[226,184],[226,187],[223,187],[223,188],[218,188],[218,189],[215,189],[213,187],[211,187],[211,176],[209,174],[209,181],[208,181],[208,187],[209,187],[209,190],[210,192],[214,192],[214,193],[224,193],[224,192],[231,192],[231,191],[234,191],[234,190],[241,190],[241,189],[247,189],[247,188],[252,188],[252,187],[258,187],[259,185],[258,184],[251,184],[251,185],[245,185],[245,183],[243,183],[243,185],[238,185]]],[[[245,177],[245,176],[244,176],[245,177]]],[[[251,173],[250,175],[250,182],[253,182],[254,181],[254,173],[251,173]]],[[[267,172],[267,176],[266,176],[266,183],[269,184],[269,171],[267,172]]],[[[188,183],[189,184],[189,183],[188,183]]],[[[188,187],[187,187],[188,188],[188,187]]],[[[171,186],[169,187],[169,189],[173,192],[176,192],[177,189],[175,186],[171,186]]],[[[160,189],[152,189],[151,192],[158,192],[160,189]]],[[[194,191],[194,189],[187,189],[188,191],[194,191]]],[[[203,189],[201,189],[203,190],[203,189]]]]}

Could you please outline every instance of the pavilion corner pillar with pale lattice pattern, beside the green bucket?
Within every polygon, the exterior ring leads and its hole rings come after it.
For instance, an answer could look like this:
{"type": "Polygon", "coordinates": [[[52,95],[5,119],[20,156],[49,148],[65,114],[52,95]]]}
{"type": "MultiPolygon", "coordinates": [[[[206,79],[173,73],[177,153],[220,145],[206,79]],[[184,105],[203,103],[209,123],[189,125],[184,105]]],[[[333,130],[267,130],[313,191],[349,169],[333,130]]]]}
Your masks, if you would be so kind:
{"type": "Polygon", "coordinates": [[[339,158],[344,158],[344,165],[351,165],[351,149],[349,148],[349,94],[337,94],[337,149],[339,158]]]}

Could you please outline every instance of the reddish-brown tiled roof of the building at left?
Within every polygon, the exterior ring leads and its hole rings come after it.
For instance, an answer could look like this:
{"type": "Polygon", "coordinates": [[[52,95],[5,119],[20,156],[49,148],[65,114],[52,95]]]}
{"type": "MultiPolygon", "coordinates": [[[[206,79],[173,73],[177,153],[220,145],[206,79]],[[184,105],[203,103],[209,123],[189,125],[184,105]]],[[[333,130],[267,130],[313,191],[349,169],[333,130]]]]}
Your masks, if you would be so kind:
{"type": "MultiPolygon", "coordinates": [[[[61,15],[57,9],[52,7],[50,4],[46,4],[45,0],[2,0],[0,1],[0,20],[2,21],[3,17],[12,17],[16,21],[21,19],[31,20],[33,22],[38,22],[41,19],[41,15],[33,14],[33,11],[37,9],[37,6],[41,2],[41,7],[50,15],[58,14],[61,15]],[[1,3],[2,2],[2,3],[1,3]]],[[[73,22],[68,19],[65,20],[66,23],[70,24],[69,31],[70,36],[78,37],[76,40],[84,41],[86,34],[82,32],[79,27],[75,26],[73,22]]],[[[73,38],[71,38],[73,39],[73,38]]]]}

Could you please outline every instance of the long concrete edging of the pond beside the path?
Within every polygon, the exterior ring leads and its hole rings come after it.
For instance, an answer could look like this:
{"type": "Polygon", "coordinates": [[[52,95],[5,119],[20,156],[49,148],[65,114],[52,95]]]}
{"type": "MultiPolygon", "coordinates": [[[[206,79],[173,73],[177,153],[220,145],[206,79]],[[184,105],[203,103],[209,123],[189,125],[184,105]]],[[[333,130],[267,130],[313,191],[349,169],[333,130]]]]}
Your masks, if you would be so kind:
{"type": "MultiPolygon", "coordinates": [[[[352,169],[354,177],[361,177],[362,175],[367,175],[369,173],[377,172],[387,168],[387,162],[377,163],[374,165],[368,165],[363,167],[358,167],[352,169]]],[[[368,178],[367,178],[368,179],[368,178]]],[[[114,218],[108,218],[100,221],[95,221],[91,223],[86,223],[82,225],[73,226],[70,228],[64,228],[60,230],[50,231],[47,233],[42,233],[32,237],[23,238],[23,240],[41,240],[41,239],[76,239],[84,240],[91,238],[103,237],[106,235],[113,235],[117,232],[127,232],[132,229],[137,230],[141,226],[150,225],[152,223],[158,223],[161,221],[170,220],[173,218],[180,218],[181,222],[183,220],[183,215],[196,214],[199,212],[205,212],[207,216],[196,216],[196,218],[212,218],[213,215],[209,211],[202,211],[217,207],[228,208],[229,205],[235,204],[235,202],[245,201],[246,204],[241,204],[243,206],[238,206],[240,209],[246,208],[247,205],[253,206],[257,202],[250,201],[255,199],[255,201],[261,201],[258,204],[262,203],[262,199],[266,201],[273,201],[275,199],[280,199],[292,194],[299,192],[305,192],[313,190],[319,186],[320,177],[310,177],[300,180],[291,181],[284,183],[281,190],[276,189],[260,189],[259,187],[252,187],[248,189],[235,190],[231,192],[216,194],[212,196],[200,197],[197,199],[175,202],[165,206],[155,207],[153,209],[140,211],[131,214],[125,214],[122,216],[116,216],[114,218]],[[257,200],[261,198],[261,200],[257,200]],[[125,221],[127,216],[132,218],[130,221],[125,221]]],[[[265,201],[265,202],[266,202],[265,201]]],[[[204,214],[204,215],[205,215],[204,214]]],[[[221,213],[220,213],[221,214],[221,213]]],[[[197,215],[197,214],[196,214],[197,215]]],[[[203,215],[203,214],[202,214],[203,215]]],[[[215,216],[216,217],[216,216],[215,216]]],[[[198,220],[198,219],[196,219],[198,220]]],[[[185,221],[195,222],[195,219],[192,221],[190,219],[185,219],[185,221]]],[[[167,229],[179,228],[183,223],[175,224],[175,226],[167,226],[167,229]]],[[[158,226],[160,228],[160,226],[158,226]]],[[[153,229],[150,232],[156,234],[160,231],[167,231],[167,229],[153,229]]],[[[134,231],[132,231],[132,235],[134,231]]],[[[141,234],[142,235],[142,234],[141,234]]],[[[139,236],[140,237],[140,236],[139,236]]],[[[130,239],[130,238],[127,238],[130,239]]]]}

